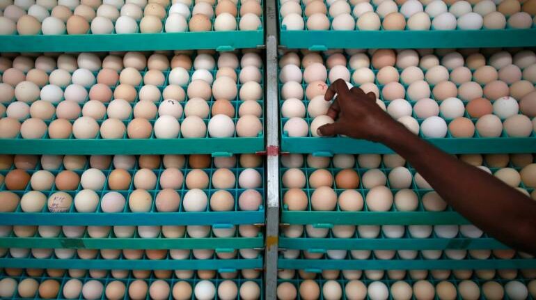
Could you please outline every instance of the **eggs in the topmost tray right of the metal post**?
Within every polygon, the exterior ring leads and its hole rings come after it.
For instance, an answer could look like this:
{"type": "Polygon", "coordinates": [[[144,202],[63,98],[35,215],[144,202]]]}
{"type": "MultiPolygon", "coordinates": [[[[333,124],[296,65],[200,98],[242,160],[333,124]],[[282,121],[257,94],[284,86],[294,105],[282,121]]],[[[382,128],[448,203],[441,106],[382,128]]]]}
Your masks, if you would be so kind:
{"type": "MultiPolygon", "coordinates": [[[[533,26],[536,6],[523,7],[517,0],[491,0],[478,2],[474,7],[468,1],[456,1],[450,7],[435,0],[423,6],[418,0],[404,1],[399,7],[395,1],[381,1],[373,7],[368,1],[356,3],[353,8],[347,0],[307,1],[302,10],[299,1],[285,1],[279,10],[281,25],[287,30],[361,31],[378,30],[478,30],[478,29],[529,29],[533,26]],[[328,18],[328,15],[331,19],[328,18]],[[304,18],[307,18],[306,21],[304,18]]],[[[530,2],[530,1],[528,1],[530,2]]]]}

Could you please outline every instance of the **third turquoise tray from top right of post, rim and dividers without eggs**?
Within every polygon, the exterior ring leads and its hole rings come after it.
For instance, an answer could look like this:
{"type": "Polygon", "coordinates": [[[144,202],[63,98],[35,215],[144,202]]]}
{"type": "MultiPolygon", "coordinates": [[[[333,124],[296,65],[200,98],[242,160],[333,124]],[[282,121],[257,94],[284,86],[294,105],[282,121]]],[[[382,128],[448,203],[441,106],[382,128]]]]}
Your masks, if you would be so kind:
{"type": "MultiPolygon", "coordinates": [[[[316,168],[311,168],[308,166],[307,161],[304,160],[304,166],[301,166],[300,170],[304,172],[306,176],[306,186],[302,189],[308,196],[308,206],[307,209],[304,211],[290,211],[287,208],[287,205],[283,203],[283,196],[285,195],[285,192],[288,191],[287,188],[283,185],[283,174],[285,171],[287,171],[289,168],[286,168],[284,166],[280,166],[280,186],[281,186],[281,223],[288,223],[288,224],[312,224],[313,226],[317,226],[317,228],[332,228],[333,225],[464,225],[469,224],[469,222],[460,214],[455,212],[455,210],[448,205],[446,207],[446,210],[442,212],[432,212],[425,210],[425,207],[423,206],[422,198],[425,194],[429,193],[430,191],[434,191],[433,189],[420,189],[415,180],[413,179],[415,177],[415,174],[417,171],[409,166],[409,164],[405,165],[406,168],[411,173],[412,180],[411,180],[411,186],[409,189],[413,190],[418,197],[419,203],[418,207],[413,212],[404,212],[397,210],[396,206],[391,206],[391,210],[387,212],[375,212],[370,211],[368,209],[368,205],[365,201],[366,194],[368,194],[369,189],[366,189],[363,187],[363,182],[361,181],[361,178],[363,177],[363,174],[368,171],[367,168],[361,168],[358,166],[358,163],[356,162],[356,166],[352,169],[356,171],[359,175],[359,187],[356,189],[361,196],[363,197],[363,210],[357,211],[357,212],[345,212],[340,210],[339,205],[336,205],[335,210],[333,211],[314,211],[311,207],[310,203],[310,197],[313,194],[314,188],[310,187],[309,184],[309,176],[311,173],[313,173],[316,168]]],[[[517,171],[521,170],[521,168],[513,166],[511,163],[507,167],[514,168],[517,171]]],[[[331,175],[333,176],[333,179],[335,179],[336,174],[342,170],[341,168],[335,168],[333,166],[333,162],[330,162],[330,165],[328,168],[324,168],[325,170],[329,171],[331,175]]],[[[490,168],[491,172],[494,173],[499,168],[490,168]]],[[[388,173],[392,170],[391,168],[386,168],[384,165],[384,162],[381,162],[381,165],[379,166],[379,170],[382,171],[386,177],[388,176],[388,173]]],[[[391,192],[394,194],[397,191],[400,191],[400,189],[393,189],[391,188],[391,185],[389,184],[389,180],[386,181],[386,187],[391,189],[391,192]]],[[[527,188],[523,182],[521,182],[520,186],[522,189],[526,189],[529,193],[531,193],[534,189],[527,188]]],[[[335,180],[333,180],[333,186],[331,187],[337,195],[342,193],[342,191],[346,191],[346,189],[340,189],[336,186],[335,180]]]]}

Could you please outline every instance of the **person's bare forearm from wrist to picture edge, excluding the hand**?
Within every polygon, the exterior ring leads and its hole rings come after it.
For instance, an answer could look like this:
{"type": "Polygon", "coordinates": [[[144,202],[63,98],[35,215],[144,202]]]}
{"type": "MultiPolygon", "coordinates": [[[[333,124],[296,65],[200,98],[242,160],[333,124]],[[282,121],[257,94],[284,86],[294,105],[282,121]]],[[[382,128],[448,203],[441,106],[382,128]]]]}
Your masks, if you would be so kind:
{"type": "Polygon", "coordinates": [[[514,248],[536,253],[536,202],[496,177],[442,152],[402,125],[382,139],[460,214],[514,248]]]}

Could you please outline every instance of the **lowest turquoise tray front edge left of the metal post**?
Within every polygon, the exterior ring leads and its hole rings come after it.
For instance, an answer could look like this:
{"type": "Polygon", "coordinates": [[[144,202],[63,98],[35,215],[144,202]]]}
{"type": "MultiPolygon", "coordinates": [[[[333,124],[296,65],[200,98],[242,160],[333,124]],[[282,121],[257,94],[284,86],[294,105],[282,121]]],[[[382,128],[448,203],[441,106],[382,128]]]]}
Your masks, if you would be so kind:
{"type": "MultiPolygon", "coordinates": [[[[218,249],[218,253],[231,253],[232,248],[218,249]]],[[[257,258],[243,258],[238,252],[235,258],[220,259],[216,253],[211,258],[199,260],[190,252],[189,258],[174,260],[166,253],[160,260],[151,260],[146,254],[141,259],[129,260],[120,255],[117,259],[107,260],[100,253],[93,259],[73,258],[61,259],[52,254],[49,258],[34,258],[31,253],[22,258],[14,258],[10,253],[0,258],[0,265],[5,268],[35,268],[35,269],[139,269],[139,270],[198,270],[198,269],[258,269],[262,268],[262,252],[257,258]]]]}

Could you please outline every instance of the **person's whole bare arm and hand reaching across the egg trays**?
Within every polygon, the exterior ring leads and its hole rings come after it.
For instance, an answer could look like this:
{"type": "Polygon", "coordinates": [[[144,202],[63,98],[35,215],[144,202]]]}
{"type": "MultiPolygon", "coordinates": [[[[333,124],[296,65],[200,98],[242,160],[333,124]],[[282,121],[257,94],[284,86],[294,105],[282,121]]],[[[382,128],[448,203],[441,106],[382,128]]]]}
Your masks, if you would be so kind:
{"type": "Polygon", "coordinates": [[[383,111],[374,93],[349,90],[338,79],[329,86],[326,101],[335,95],[328,115],[336,121],[320,127],[321,136],[344,134],[387,145],[475,226],[507,246],[536,254],[536,201],[420,139],[383,111]]]}

